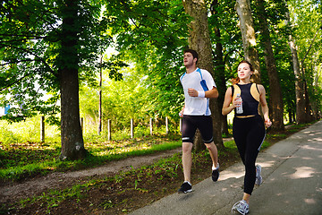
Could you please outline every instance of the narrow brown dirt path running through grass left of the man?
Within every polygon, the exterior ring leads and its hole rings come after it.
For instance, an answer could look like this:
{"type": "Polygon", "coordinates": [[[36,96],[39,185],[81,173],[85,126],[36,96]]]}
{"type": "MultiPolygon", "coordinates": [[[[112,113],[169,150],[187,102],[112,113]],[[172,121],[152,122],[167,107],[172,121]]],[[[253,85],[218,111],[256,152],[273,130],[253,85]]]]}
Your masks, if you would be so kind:
{"type": "Polygon", "coordinates": [[[181,148],[159,152],[157,154],[111,161],[108,164],[80,171],[53,173],[47,176],[31,178],[21,183],[0,185],[0,202],[16,202],[46,192],[48,189],[66,188],[90,178],[100,178],[114,175],[120,171],[140,168],[181,152],[181,148]]]}

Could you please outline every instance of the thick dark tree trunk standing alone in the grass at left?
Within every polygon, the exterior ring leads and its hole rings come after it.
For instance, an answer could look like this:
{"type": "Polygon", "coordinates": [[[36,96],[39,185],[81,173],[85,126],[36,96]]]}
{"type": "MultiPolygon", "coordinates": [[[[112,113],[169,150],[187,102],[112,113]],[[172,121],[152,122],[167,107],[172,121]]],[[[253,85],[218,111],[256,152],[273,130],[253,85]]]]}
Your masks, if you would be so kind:
{"type": "Polygon", "coordinates": [[[58,60],[60,61],[59,78],[61,89],[61,160],[82,159],[87,151],[84,148],[80,127],[79,80],[77,51],[78,5],[73,0],[66,0],[62,5],[63,27],[62,48],[58,60]]]}

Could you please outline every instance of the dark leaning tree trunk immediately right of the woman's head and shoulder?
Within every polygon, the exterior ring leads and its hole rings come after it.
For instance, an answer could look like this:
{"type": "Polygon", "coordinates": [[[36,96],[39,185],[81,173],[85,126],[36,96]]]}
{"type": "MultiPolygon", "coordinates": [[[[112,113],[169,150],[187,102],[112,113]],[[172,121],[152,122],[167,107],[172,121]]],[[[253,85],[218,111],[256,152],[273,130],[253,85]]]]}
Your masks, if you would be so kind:
{"type": "Polygon", "coordinates": [[[268,24],[267,24],[267,12],[265,10],[264,0],[257,1],[258,7],[258,20],[261,23],[259,26],[261,35],[263,37],[263,45],[265,47],[265,63],[267,66],[268,80],[269,80],[269,89],[270,89],[270,109],[269,113],[273,122],[273,130],[282,131],[284,130],[284,105],[282,98],[281,85],[278,78],[278,73],[276,70],[275,58],[273,54],[273,48],[271,44],[271,39],[269,36],[268,24]]]}

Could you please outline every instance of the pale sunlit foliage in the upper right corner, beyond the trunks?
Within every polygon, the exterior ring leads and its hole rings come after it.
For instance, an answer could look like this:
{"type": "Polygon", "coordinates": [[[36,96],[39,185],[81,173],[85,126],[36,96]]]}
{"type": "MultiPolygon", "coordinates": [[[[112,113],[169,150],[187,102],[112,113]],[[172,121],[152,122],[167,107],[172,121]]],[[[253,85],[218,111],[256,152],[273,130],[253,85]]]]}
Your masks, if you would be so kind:
{"type": "Polygon", "coordinates": [[[320,1],[288,1],[293,37],[301,64],[301,78],[306,82],[313,111],[321,110],[322,7],[320,1]]]}

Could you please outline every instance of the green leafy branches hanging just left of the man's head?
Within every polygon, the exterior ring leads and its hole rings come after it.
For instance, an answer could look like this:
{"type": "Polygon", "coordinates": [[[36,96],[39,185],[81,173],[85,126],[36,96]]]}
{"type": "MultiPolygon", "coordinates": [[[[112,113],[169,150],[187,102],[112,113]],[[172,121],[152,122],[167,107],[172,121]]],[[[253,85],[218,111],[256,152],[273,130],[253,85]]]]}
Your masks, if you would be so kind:
{"type": "Polygon", "coordinates": [[[148,110],[177,116],[182,107],[179,77],[189,22],[182,2],[115,2],[106,3],[105,19],[110,22],[120,55],[135,62],[138,73],[147,77],[143,84],[152,92],[147,98],[152,105],[148,110]]]}

